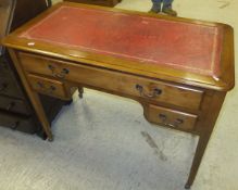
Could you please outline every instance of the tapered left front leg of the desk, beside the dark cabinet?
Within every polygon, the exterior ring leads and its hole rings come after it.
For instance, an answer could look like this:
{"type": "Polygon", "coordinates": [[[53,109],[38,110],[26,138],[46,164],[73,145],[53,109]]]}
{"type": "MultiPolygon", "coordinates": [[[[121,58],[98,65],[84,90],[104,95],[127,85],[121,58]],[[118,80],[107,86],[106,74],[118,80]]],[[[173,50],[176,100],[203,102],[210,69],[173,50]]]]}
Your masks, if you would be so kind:
{"type": "Polygon", "coordinates": [[[20,75],[22,84],[25,87],[26,93],[28,94],[28,98],[29,98],[29,100],[30,100],[30,102],[34,106],[34,110],[36,111],[38,119],[39,119],[39,122],[41,123],[41,125],[43,127],[43,130],[45,130],[45,132],[48,137],[48,140],[52,141],[53,136],[52,136],[52,132],[51,132],[51,129],[50,129],[50,124],[49,124],[49,122],[46,117],[46,114],[45,114],[42,104],[39,100],[38,93],[32,90],[30,85],[27,81],[26,74],[25,74],[24,69],[22,68],[21,62],[18,61],[15,51],[12,50],[12,49],[8,49],[8,50],[10,52],[10,55],[11,55],[12,60],[13,60],[15,68],[17,71],[18,75],[20,75]]]}

